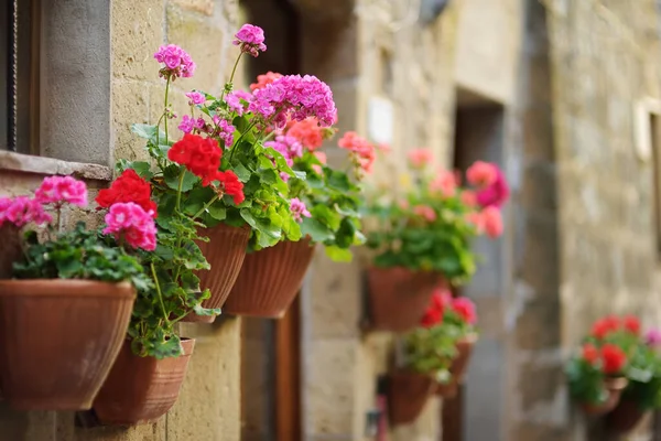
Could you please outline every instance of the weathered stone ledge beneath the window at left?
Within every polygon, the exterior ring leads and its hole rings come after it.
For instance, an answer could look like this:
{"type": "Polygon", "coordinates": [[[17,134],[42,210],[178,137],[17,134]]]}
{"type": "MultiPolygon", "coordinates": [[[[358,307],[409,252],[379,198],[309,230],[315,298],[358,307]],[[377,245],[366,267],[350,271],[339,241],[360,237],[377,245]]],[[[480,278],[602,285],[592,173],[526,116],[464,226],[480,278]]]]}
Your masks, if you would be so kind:
{"type": "Polygon", "coordinates": [[[95,181],[112,180],[112,170],[105,165],[0,151],[0,172],[3,170],[34,174],[71,174],[95,181]]]}

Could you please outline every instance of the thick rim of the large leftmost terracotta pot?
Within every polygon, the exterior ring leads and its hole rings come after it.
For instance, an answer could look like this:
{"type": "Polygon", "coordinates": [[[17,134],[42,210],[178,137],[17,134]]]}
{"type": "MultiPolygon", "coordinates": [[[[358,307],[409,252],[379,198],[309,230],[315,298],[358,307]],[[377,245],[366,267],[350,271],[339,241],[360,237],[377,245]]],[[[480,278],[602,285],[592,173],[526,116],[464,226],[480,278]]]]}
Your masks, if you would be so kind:
{"type": "Polygon", "coordinates": [[[0,280],[0,297],[112,297],[134,298],[128,281],[106,282],[89,279],[6,279],[0,280]]]}

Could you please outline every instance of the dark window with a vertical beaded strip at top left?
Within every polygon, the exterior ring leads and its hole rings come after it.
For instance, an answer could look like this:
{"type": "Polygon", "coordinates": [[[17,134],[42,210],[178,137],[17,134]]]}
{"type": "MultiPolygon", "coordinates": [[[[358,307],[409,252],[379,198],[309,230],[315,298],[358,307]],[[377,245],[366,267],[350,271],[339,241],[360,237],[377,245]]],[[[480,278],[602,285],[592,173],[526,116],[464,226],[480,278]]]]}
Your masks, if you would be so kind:
{"type": "Polygon", "coordinates": [[[39,153],[41,0],[0,0],[0,150],[39,153]]]}

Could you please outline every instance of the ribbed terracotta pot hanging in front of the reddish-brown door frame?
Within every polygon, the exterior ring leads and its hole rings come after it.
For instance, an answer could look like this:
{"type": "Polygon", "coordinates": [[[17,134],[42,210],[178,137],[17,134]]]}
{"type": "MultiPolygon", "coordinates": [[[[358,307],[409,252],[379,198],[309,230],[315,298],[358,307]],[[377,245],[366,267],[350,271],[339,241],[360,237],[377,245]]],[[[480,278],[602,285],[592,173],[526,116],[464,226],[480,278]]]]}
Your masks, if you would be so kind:
{"type": "Polygon", "coordinates": [[[303,284],[313,255],[310,238],[281,241],[246,255],[224,311],[235,315],[282,318],[303,284]]]}

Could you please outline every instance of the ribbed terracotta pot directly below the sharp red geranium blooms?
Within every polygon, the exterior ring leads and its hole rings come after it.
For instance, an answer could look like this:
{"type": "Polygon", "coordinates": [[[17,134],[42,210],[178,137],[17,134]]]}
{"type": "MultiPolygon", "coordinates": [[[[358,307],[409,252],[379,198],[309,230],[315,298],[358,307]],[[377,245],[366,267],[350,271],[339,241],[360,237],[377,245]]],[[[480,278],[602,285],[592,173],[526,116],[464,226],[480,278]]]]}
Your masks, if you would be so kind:
{"type": "MultiPolygon", "coordinates": [[[[197,272],[199,288],[202,290],[208,288],[212,292],[212,297],[202,305],[209,309],[220,308],[227,300],[241,270],[246,247],[250,239],[250,228],[219,224],[213,228],[201,230],[199,234],[209,238],[209,241],[198,241],[197,246],[212,266],[210,270],[197,272]]],[[[213,323],[215,320],[215,315],[189,313],[182,321],[213,323]]]]}

